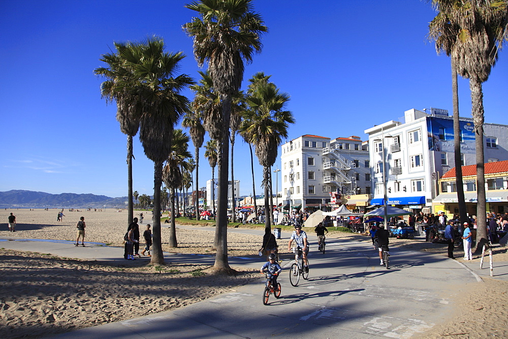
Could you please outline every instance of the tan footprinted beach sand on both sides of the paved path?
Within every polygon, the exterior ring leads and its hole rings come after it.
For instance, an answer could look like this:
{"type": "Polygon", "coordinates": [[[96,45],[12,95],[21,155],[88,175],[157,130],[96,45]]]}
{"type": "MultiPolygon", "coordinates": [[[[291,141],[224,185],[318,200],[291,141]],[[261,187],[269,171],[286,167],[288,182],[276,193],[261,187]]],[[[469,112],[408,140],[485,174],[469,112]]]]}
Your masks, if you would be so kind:
{"type": "MultiPolygon", "coordinates": [[[[86,222],[86,242],[123,247],[127,228],[127,212],[63,211],[63,222],[57,222],[58,210],[8,209],[0,223],[0,235],[30,239],[76,240],[76,223],[81,216],[86,222]],[[7,216],[16,216],[16,232],[9,232],[7,216]]],[[[151,213],[144,212],[140,230],[151,224],[151,213]]],[[[178,253],[213,254],[213,232],[177,229],[179,247],[168,247],[168,224],[162,224],[163,250],[178,253]]],[[[344,232],[331,232],[331,238],[345,238],[370,242],[370,237],[344,232]]],[[[256,255],[261,237],[228,233],[229,254],[256,255]]],[[[446,256],[446,245],[422,240],[391,239],[391,247],[426,251],[446,256]]],[[[285,250],[285,247],[281,247],[285,250]]],[[[462,250],[456,257],[462,260],[462,250]]],[[[473,261],[479,261],[474,256],[473,261]]],[[[494,260],[506,261],[506,248],[494,250],[494,260]]],[[[488,263],[487,263],[488,264],[488,263]]],[[[185,306],[206,299],[252,279],[259,274],[239,272],[234,278],[217,277],[206,273],[207,267],[173,265],[146,266],[106,265],[45,254],[0,249],[0,270],[4,288],[0,292],[0,324],[4,337],[34,337],[65,332],[75,328],[120,321],[149,313],[185,306]]],[[[505,302],[508,282],[484,279],[482,283],[460,285],[458,282],[457,312],[443,318],[427,333],[418,337],[508,337],[508,311],[505,302]],[[470,285],[470,286],[469,286],[470,285]]]]}

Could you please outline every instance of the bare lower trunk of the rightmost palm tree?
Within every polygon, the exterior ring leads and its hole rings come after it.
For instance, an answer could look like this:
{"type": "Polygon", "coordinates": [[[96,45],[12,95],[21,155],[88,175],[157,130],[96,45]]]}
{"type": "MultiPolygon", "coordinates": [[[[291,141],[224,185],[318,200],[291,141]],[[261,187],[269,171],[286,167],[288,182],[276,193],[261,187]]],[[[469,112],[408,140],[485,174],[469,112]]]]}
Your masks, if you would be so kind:
{"type": "Polygon", "coordinates": [[[469,79],[469,88],[471,90],[471,111],[475,130],[475,147],[477,160],[477,249],[475,253],[482,251],[487,240],[487,208],[485,196],[485,162],[483,148],[483,92],[482,83],[476,79],[469,79]]]}

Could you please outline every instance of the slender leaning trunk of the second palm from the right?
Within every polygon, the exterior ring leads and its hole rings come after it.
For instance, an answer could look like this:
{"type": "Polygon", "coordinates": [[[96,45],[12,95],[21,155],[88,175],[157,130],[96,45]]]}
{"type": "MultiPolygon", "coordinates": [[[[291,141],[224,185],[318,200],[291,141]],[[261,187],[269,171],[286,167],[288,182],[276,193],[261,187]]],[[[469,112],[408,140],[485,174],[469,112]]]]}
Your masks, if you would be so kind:
{"type": "MultiPolygon", "coordinates": [[[[464,199],[464,186],[462,181],[462,162],[460,161],[460,121],[459,121],[459,90],[457,85],[457,69],[452,60],[452,94],[453,94],[453,133],[455,153],[455,178],[457,186],[457,200],[459,202],[460,223],[467,221],[466,202],[464,199]]],[[[451,211],[450,211],[451,212],[451,211]]],[[[460,228],[460,227],[459,227],[460,228]]]]}

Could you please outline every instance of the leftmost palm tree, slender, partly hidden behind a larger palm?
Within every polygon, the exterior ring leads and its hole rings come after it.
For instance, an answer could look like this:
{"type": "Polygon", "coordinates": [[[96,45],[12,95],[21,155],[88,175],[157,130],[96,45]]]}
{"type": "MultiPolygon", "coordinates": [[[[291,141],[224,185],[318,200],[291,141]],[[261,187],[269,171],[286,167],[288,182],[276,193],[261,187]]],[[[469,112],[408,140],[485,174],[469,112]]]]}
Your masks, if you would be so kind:
{"type": "Polygon", "coordinates": [[[101,61],[108,67],[98,67],[93,72],[106,79],[101,84],[101,95],[107,103],[116,101],[116,120],[120,123],[120,130],[127,135],[127,182],[128,182],[128,214],[127,222],[130,224],[134,218],[133,191],[132,191],[132,159],[133,137],[138,133],[139,119],[142,111],[132,88],[124,86],[124,77],[129,76],[129,70],[124,67],[125,60],[122,51],[126,44],[114,43],[116,53],[103,54],[101,61]]]}

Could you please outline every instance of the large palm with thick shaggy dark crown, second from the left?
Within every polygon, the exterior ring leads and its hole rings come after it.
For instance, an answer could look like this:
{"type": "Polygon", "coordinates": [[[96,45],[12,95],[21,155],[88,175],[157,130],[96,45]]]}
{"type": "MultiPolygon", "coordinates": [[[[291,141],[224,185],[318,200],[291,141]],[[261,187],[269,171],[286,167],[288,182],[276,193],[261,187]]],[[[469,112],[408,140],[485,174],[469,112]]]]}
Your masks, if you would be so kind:
{"type": "Polygon", "coordinates": [[[175,77],[183,53],[164,51],[161,38],[149,38],[141,43],[128,43],[120,51],[124,68],[125,88],[132,89],[141,106],[139,139],[145,155],[154,162],[153,192],[153,252],[151,263],[163,264],[161,239],[161,185],[163,162],[171,152],[173,126],[188,111],[189,101],[180,92],[192,85],[187,75],[175,77]]]}

